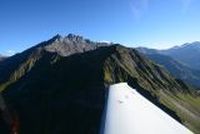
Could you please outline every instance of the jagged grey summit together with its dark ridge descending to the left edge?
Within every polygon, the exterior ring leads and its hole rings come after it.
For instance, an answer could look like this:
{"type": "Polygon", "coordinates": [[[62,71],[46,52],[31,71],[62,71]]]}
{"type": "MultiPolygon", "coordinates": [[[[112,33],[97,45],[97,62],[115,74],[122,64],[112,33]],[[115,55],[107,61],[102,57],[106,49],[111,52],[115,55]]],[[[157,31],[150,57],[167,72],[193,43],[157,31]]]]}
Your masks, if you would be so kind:
{"type": "Polygon", "coordinates": [[[15,54],[9,57],[5,62],[0,65],[0,70],[7,66],[7,71],[0,71],[1,79],[9,79],[8,72],[15,70],[19,64],[22,64],[28,57],[40,55],[41,52],[47,51],[50,53],[57,53],[61,56],[70,56],[76,53],[84,53],[90,50],[94,50],[101,46],[108,46],[110,44],[101,42],[92,42],[88,39],[84,39],[82,36],[68,34],[65,37],[57,34],[47,41],[43,41],[36,46],[33,46],[21,53],[15,54]],[[12,66],[10,65],[12,64],[12,66]],[[2,73],[2,74],[1,74],[2,73]],[[6,77],[6,78],[3,78],[6,77]]]}

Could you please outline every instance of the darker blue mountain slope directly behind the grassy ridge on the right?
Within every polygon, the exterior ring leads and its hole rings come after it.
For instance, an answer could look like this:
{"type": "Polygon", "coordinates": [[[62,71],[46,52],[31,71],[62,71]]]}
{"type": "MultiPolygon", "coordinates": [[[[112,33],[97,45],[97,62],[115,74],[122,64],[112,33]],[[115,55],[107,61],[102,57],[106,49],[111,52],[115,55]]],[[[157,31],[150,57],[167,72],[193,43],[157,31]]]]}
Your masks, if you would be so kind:
{"type": "MultiPolygon", "coordinates": [[[[176,51],[179,51],[179,49],[184,48],[184,47],[190,48],[191,46],[175,47],[175,48],[169,49],[169,51],[172,51],[173,49],[176,49],[176,51]]],[[[160,50],[148,49],[148,48],[137,48],[137,50],[143,53],[144,55],[146,55],[151,60],[155,61],[156,63],[163,65],[177,79],[181,79],[192,86],[195,86],[198,88],[200,87],[200,70],[190,68],[187,65],[187,63],[180,61],[179,59],[173,56],[170,56],[170,55],[168,56],[166,54],[167,50],[160,51],[160,50]]],[[[197,60],[198,57],[195,59],[197,60]]],[[[196,61],[196,63],[198,62],[200,61],[196,61]]]]}

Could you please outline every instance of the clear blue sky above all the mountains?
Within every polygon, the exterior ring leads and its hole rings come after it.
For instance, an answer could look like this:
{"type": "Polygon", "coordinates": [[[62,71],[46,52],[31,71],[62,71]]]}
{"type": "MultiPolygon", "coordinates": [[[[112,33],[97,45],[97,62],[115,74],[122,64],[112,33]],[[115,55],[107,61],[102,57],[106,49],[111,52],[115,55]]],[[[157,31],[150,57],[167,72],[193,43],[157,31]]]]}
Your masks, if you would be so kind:
{"type": "Polygon", "coordinates": [[[1,0],[0,18],[4,55],[57,33],[159,49],[200,40],[199,0],[1,0]]]}

